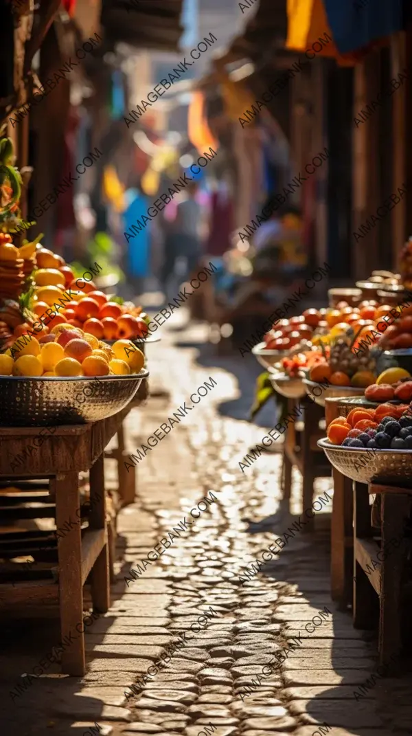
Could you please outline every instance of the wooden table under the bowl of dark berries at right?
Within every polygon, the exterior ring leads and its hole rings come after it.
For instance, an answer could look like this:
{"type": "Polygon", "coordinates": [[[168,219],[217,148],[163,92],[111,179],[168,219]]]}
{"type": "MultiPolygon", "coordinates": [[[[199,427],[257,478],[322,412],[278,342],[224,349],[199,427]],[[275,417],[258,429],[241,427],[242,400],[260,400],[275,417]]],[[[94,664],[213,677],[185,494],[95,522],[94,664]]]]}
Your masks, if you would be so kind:
{"type": "Polygon", "coordinates": [[[411,541],[405,534],[411,509],[412,487],[353,484],[353,625],[374,629],[379,620],[380,664],[388,675],[401,669],[400,654],[411,633],[411,600],[405,595],[411,588],[411,541]],[[372,527],[370,495],[379,502],[374,524],[380,529],[372,527]]]}

